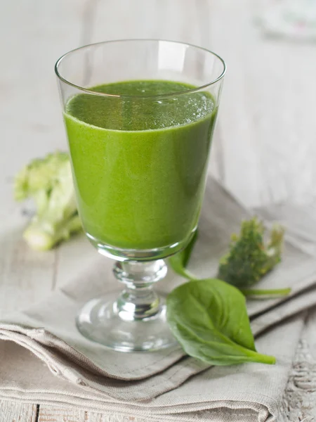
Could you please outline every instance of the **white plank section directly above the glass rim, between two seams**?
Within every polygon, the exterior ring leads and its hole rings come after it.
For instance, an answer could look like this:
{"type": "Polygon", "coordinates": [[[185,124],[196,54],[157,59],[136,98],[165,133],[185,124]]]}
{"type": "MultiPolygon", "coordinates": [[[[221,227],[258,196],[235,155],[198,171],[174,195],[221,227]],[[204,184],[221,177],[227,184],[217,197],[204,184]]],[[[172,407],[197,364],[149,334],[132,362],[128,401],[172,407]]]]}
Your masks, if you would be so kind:
{"type": "Polygon", "coordinates": [[[159,38],[201,44],[200,6],[197,0],[98,1],[91,40],[159,38]]]}

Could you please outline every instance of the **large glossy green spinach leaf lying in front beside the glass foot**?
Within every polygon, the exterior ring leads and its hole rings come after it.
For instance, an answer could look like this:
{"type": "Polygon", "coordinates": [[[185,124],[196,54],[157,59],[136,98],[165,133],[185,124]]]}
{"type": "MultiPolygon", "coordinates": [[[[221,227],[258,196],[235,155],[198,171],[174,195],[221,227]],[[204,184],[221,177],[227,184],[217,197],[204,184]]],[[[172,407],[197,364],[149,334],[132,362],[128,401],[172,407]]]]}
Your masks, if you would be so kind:
{"type": "Polygon", "coordinates": [[[225,281],[188,281],[166,304],[171,331],[190,356],[212,365],[275,363],[256,352],[244,295],[225,281]]]}

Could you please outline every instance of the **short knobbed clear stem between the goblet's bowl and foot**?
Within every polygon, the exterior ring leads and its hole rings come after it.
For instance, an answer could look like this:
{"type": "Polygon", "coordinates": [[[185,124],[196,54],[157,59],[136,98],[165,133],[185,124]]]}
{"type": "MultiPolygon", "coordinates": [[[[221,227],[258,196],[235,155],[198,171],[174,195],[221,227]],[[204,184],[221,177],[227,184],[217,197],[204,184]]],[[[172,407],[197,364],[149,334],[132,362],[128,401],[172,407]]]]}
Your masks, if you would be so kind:
{"type": "Polygon", "coordinates": [[[114,276],[125,285],[114,305],[121,319],[134,321],[159,314],[160,300],[153,285],[164,279],[166,271],[164,260],[124,261],[114,264],[114,276]]]}

